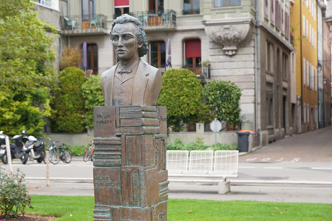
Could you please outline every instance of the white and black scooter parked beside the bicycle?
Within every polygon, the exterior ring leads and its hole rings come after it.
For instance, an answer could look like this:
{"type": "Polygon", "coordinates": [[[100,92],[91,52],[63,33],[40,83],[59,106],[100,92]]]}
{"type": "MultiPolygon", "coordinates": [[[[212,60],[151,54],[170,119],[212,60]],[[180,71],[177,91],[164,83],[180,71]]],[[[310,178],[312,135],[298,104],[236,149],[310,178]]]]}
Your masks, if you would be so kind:
{"type": "MultiPolygon", "coordinates": [[[[24,138],[28,138],[28,140],[25,142],[25,146],[23,146],[25,157],[30,157],[30,160],[37,160],[38,163],[44,161],[45,144],[43,141],[41,141],[41,137],[34,137],[30,135],[25,136],[24,138]]],[[[22,163],[25,164],[27,160],[22,160],[22,163]]]]}

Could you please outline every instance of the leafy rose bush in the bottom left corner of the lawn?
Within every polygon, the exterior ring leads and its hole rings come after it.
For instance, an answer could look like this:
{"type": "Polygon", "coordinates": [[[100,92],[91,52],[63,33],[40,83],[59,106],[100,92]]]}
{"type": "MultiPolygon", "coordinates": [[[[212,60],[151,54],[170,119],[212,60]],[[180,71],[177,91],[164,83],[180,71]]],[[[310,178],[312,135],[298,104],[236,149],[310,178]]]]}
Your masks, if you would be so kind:
{"type": "Polygon", "coordinates": [[[18,212],[24,214],[27,206],[32,208],[31,195],[27,185],[23,183],[25,175],[19,174],[19,169],[16,174],[6,174],[2,170],[0,164],[0,214],[17,217],[18,212]]]}

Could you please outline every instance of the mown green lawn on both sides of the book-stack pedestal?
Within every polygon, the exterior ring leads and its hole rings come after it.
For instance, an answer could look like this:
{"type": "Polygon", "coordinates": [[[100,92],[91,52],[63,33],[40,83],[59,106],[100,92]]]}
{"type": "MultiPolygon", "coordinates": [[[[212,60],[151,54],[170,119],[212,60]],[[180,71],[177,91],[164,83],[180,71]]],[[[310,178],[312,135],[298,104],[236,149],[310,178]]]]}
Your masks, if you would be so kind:
{"type": "MultiPolygon", "coordinates": [[[[34,208],[27,213],[60,217],[56,221],[93,220],[93,196],[32,198],[34,208]]],[[[167,220],[332,220],[332,204],[169,199],[167,220]]]]}

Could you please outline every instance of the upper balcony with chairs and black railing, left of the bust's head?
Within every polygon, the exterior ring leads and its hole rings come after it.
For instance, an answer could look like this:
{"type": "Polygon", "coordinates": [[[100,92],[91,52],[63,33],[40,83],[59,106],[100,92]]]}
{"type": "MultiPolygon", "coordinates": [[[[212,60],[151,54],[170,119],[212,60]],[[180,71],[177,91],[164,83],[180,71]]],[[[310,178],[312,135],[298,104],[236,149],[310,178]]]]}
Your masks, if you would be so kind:
{"type": "Polygon", "coordinates": [[[109,34],[107,16],[102,14],[61,16],[60,24],[65,36],[109,34]]]}

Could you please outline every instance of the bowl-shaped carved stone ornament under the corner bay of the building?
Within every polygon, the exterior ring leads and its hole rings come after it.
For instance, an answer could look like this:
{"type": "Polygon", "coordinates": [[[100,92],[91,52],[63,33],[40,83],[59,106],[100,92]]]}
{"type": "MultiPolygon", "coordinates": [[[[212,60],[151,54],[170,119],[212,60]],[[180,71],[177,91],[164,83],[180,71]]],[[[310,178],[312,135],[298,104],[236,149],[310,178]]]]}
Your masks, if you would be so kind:
{"type": "Polygon", "coordinates": [[[215,42],[224,45],[223,50],[227,55],[235,54],[237,44],[242,42],[249,33],[249,24],[234,24],[221,26],[206,26],[205,32],[215,42]]]}

